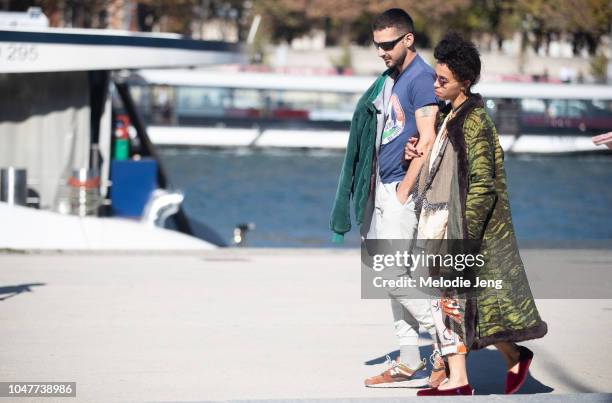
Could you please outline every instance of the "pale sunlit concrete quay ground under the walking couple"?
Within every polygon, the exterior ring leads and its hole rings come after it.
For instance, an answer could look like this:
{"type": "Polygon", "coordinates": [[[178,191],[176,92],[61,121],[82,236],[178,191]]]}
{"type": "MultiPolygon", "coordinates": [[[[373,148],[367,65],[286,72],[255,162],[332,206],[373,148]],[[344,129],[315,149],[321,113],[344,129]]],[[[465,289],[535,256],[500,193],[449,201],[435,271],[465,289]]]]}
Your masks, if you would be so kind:
{"type": "MultiPolygon", "coordinates": [[[[610,250],[522,254],[528,268],[553,262],[553,280],[612,269],[610,250]]],[[[77,383],[76,399],[20,402],[412,400],[415,389],[362,386],[397,345],[388,301],[360,298],[359,261],[322,249],[0,254],[0,381],[77,383]]],[[[525,343],[535,359],[513,401],[612,401],[594,394],[612,392],[607,281],[600,299],[538,300],[549,334],[525,343]]],[[[493,396],[504,373],[494,350],[470,355],[477,400],[508,400],[493,396]]]]}

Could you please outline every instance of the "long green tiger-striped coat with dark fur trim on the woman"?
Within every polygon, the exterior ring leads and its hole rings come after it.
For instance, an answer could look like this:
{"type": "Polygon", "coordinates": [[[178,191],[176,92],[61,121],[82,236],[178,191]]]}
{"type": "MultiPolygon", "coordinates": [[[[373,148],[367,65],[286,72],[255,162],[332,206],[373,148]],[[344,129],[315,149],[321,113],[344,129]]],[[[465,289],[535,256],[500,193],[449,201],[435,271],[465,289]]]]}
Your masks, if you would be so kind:
{"type": "Polygon", "coordinates": [[[465,306],[465,340],[470,349],[497,342],[543,337],[540,318],[519,254],[506,188],[504,153],[482,98],[471,95],[447,124],[456,153],[449,202],[449,239],[482,239],[481,279],[502,280],[465,306]]]}

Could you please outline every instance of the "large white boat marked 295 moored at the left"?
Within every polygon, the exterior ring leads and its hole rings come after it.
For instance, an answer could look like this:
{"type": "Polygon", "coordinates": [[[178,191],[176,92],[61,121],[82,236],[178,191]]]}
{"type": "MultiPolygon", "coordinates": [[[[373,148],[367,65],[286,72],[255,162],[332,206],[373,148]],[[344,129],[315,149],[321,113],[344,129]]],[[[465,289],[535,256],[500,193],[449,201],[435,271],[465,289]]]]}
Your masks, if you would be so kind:
{"type": "MultiPolygon", "coordinates": [[[[0,203],[0,249],[206,250],[225,246],[214,230],[182,210],[182,195],[171,188],[156,158],[122,72],[235,63],[241,57],[237,44],[174,34],[0,27],[0,193],[5,200],[0,203]],[[116,213],[114,202],[109,202],[114,200],[113,186],[119,186],[118,181],[112,183],[110,172],[111,89],[137,129],[141,162],[151,162],[149,169],[156,178],[151,180],[156,182],[153,187],[167,190],[150,194],[146,205],[137,206],[141,216],[108,216],[116,213]],[[27,183],[19,187],[24,175],[27,183]],[[168,216],[175,230],[163,227],[168,216]]],[[[131,166],[129,161],[126,164],[131,166]]],[[[134,166],[139,163],[134,161],[134,166]]],[[[127,175],[127,179],[140,186],[141,178],[127,175]]],[[[129,186],[123,185],[128,196],[129,186]]],[[[126,200],[132,202],[129,197],[126,200]]]]}

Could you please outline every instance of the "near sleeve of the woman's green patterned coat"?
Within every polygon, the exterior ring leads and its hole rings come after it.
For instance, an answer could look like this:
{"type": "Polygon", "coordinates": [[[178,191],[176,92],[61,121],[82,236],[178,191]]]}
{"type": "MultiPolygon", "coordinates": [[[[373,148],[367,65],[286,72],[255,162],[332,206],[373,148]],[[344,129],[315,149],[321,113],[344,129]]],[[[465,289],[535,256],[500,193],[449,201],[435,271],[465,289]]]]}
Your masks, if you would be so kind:
{"type": "Polygon", "coordinates": [[[463,125],[468,160],[466,221],[468,238],[482,239],[497,193],[495,190],[495,149],[491,127],[478,113],[471,113],[463,125]]]}

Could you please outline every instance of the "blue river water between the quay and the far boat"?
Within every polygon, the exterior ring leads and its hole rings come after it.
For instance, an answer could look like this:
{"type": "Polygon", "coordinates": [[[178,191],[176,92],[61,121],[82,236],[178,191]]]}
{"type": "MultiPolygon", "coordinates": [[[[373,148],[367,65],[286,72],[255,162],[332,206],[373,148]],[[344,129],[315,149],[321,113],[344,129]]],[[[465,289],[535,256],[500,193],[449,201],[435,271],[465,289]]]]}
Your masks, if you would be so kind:
{"type": "MultiPolygon", "coordinates": [[[[236,224],[255,223],[249,246],[335,247],[329,214],[343,152],[162,148],[188,215],[231,241],[236,224]]],[[[519,240],[612,239],[612,157],[506,157],[519,240]]],[[[358,229],[343,247],[358,247],[358,229]]]]}

